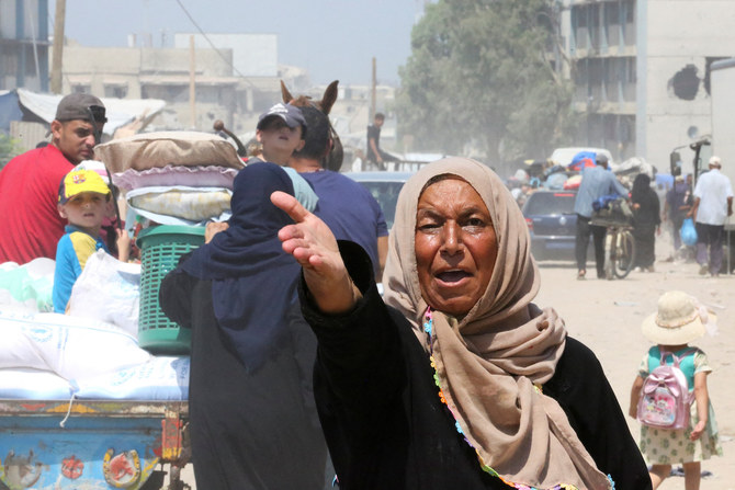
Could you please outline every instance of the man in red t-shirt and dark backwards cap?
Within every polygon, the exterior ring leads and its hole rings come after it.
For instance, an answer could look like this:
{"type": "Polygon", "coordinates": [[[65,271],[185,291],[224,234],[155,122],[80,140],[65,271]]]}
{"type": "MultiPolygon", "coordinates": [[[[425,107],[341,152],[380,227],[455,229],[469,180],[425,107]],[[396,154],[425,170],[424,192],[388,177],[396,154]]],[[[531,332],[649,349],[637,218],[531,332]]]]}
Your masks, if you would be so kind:
{"type": "Polygon", "coordinates": [[[66,225],[56,208],[59,184],[92,158],[106,121],[94,95],[66,95],[50,125],[50,145],[19,155],[0,171],[0,263],[56,257],[66,225]]]}

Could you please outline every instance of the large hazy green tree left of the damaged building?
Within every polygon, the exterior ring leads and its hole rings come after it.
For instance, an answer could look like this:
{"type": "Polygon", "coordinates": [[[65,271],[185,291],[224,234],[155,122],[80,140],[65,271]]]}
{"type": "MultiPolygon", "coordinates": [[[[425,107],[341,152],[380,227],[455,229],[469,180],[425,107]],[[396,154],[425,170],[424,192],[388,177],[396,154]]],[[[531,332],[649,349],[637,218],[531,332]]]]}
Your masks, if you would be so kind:
{"type": "Polygon", "coordinates": [[[438,0],[411,33],[396,101],[416,146],[488,164],[551,153],[573,126],[554,0],[438,0]]]}

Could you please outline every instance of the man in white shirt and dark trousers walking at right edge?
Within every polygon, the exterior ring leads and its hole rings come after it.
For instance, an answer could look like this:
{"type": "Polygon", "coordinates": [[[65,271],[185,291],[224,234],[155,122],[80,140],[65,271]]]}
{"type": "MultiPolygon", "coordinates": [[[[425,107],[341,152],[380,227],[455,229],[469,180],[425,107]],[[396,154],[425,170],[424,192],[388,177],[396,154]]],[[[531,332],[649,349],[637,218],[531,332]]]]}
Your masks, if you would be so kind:
{"type": "Polygon", "coordinates": [[[699,273],[720,275],[722,237],[727,217],[733,214],[733,186],[720,171],[720,157],[710,158],[710,171],[700,175],[694,187],[694,205],[690,215],[697,227],[697,262],[699,273]],[[709,248],[709,261],[708,261],[709,248]]]}

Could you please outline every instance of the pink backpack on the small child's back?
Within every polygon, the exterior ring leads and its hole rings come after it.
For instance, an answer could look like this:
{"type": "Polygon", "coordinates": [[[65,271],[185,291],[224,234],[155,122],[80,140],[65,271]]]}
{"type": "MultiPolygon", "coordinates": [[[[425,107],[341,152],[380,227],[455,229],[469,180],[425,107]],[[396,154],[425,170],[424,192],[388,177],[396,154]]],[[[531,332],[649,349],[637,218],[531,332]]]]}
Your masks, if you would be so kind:
{"type": "MultiPolygon", "coordinates": [[[[683,353],[686,357],[693,350],[683,353]]],[[[638,421],[658,429],[686,429],[693,394],[689,392],[687,376],[679,368],[680,358],[671,353],[674,364],[666,364],[667,352],[662,352],[660,365],[643,381],[638,397],[638,421]]]]}

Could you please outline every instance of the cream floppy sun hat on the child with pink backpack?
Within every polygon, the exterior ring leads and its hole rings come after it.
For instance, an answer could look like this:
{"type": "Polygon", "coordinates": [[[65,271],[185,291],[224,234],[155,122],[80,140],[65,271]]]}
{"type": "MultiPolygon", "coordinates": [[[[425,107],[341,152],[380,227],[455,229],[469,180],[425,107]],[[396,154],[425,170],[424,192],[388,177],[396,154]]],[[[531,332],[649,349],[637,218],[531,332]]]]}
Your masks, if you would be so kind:
{"type": "Polygon", "coordinates": [[[658,299],[658,311],[649,315],[641,326],[643,335],[662,345],[681,345],[699,339],[714,323],[715,317],[699,301],[680,290],[664,293],[658,299]]]}

